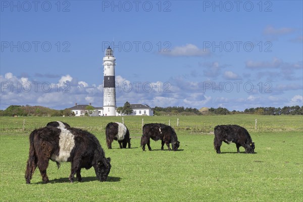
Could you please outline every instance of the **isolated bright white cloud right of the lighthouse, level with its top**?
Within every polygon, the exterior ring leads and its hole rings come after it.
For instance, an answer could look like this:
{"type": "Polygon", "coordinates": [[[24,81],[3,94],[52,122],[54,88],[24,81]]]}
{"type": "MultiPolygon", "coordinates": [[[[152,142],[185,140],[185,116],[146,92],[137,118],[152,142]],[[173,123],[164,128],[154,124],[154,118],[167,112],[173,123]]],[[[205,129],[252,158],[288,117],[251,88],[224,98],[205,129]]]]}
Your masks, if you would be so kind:
{"type": "Polygon", "coordinates": [[[200,49],[196,45],[187,43],[183,46],[174,47],[171,52],[161,52],[163,55],[182,57],[182,56],[210,56],[210,51],[208,49],[200,49]]]}

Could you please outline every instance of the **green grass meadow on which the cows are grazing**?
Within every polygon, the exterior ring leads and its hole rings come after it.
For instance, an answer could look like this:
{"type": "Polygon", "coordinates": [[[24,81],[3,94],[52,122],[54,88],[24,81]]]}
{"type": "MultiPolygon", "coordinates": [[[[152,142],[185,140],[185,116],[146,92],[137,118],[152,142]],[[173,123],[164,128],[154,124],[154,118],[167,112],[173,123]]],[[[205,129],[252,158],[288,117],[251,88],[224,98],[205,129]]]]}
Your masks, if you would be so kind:
{"type": "Polygon", "coordinates": [[[302,201],[303,116],[161,116],[124,117],[131,149],[106,147],[105,126],[121,117],[1,117],[1,201],[302,201]],[[176,130],[178,151],[152,151],[140,147],[141,124],[165,123],[176,130]],[[179,125],[177,126],[177,119],[179,125]],[[256,128],[257,119],[257,128],[256,128]],[[107,182],[96,180],[93,168],[82,169],[83,182],[69,183],[70,163],[58,170],[50,161],[50,183],[38,168],[31,184],[25,183],[29,133],[49,121],[64,121],[93,133],[112,159],[107,182]],[[236,153],[235,144],[216,154],[213,128],[219,124],[245,127],[256,144],[256,154],[236,153]]]}

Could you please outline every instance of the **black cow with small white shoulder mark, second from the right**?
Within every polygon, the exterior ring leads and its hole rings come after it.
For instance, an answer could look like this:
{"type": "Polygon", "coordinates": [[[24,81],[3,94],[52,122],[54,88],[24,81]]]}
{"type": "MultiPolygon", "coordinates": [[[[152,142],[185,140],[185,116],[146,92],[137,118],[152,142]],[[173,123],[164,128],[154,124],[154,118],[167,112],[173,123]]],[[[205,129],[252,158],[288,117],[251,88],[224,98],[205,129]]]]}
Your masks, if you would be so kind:
{"type": "Polygon", "coordinates": [[[149,138],[155,141],[161,139],[161,150],[163,150],[164,143],[166,143],[168,150],[171,150],[169,146],[170,143],[172,144],[174,151],[176,151],[180,146],[180,142],[178,141],[178,137],[175,130],[165,124],[149,123],[143,126],[143,134],[141,137],[141,146],[143,151],[145,150],[145,144],[147,144],[148,149],[151,150],[149,138]]]}

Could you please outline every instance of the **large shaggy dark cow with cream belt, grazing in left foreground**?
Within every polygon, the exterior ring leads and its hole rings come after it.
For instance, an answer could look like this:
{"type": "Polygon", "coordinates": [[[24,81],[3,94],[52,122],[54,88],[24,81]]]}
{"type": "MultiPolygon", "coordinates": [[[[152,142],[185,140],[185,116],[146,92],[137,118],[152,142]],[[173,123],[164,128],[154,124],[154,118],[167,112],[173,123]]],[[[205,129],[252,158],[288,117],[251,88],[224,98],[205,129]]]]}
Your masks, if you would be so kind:
{"type": "Polygon", "coordinates": [[[29,158],[27,161],[25,179],[30,184],[32,175],[38,166],[42,180],[47,183],[46,169],[51,159],[57,165],[60,162],[71,162],[69,181],[74,181],[74,175],[79,182],[81,168],[94,168],[97,179],[106,181],[111,170],[110,158],[105,158],[98,139],[91,133],[77,128],[63,128],[61,122],[57,128],[48,126],[36,129],[29,135],[29,158]]]}

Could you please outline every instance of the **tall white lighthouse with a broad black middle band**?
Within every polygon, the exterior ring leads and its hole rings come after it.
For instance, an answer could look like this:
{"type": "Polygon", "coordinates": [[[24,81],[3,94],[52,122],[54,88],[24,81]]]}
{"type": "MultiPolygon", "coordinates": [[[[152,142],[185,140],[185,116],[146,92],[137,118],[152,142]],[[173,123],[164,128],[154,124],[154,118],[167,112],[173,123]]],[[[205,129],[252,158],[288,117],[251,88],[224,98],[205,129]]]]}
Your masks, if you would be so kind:
{"type": "Polygon", "coordinates": [[[104,94],[103,94],[103,114],[104,116],[116,116],[116,85],[115,85],[115,65],[116,58],[113,50],[109,46],[103,58],[104,66],[104,94]]]}

